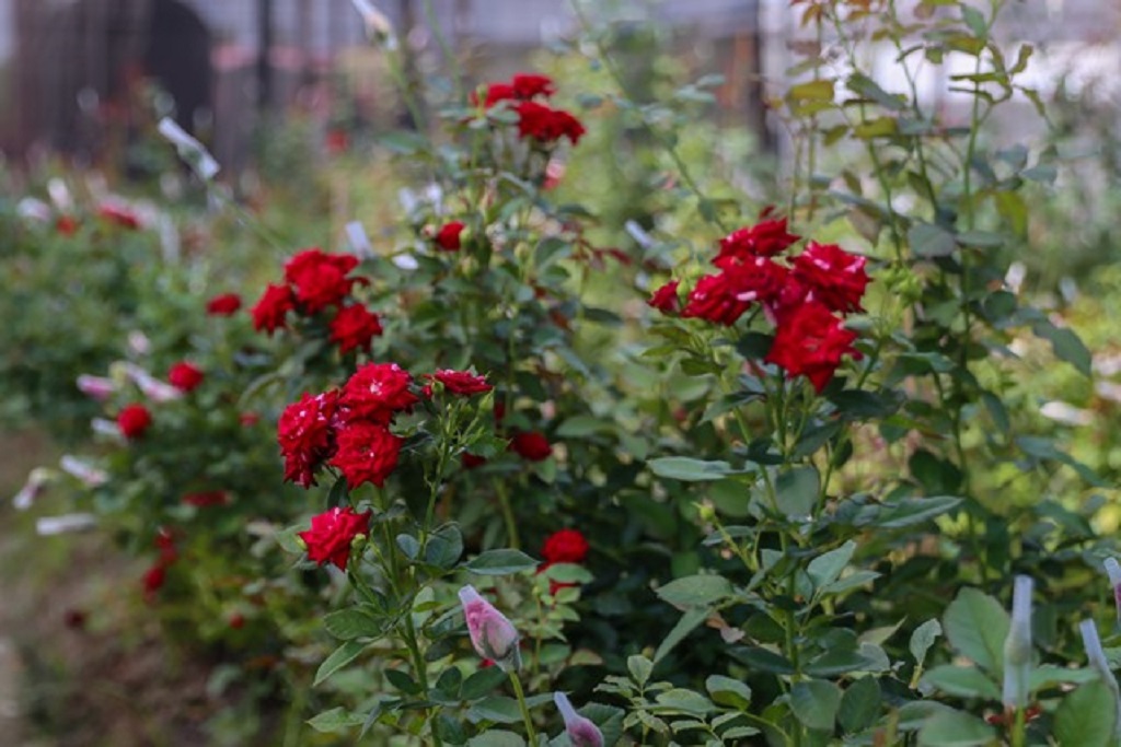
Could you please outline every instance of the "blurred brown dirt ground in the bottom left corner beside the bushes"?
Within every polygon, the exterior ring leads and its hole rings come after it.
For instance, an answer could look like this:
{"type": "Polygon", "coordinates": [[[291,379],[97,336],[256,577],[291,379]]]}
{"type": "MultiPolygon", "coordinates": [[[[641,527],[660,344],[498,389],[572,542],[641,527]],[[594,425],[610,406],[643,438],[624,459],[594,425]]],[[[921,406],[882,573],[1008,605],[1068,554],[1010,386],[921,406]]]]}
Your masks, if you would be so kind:
{"type": "Polygon", "coordinates": [[[36,511],[12,510],[28,470],[56,458],[39,436],[0,436],[0,743],[207,744],[209,667],[166,644],[137,592],[142,564],[95,532],[37,538],[36,511]]]}

